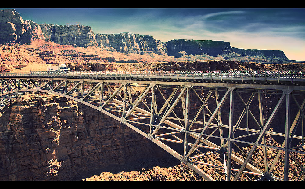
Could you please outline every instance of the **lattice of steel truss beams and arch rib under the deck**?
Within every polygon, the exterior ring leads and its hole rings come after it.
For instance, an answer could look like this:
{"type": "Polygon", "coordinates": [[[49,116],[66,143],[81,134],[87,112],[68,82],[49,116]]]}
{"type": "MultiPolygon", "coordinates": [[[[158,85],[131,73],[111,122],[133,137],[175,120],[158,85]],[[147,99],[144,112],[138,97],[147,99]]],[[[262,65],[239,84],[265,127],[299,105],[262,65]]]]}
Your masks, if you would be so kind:
{"type": "MultiPolygon", "coordinates": [[[[303,100],[303,95],[305,90],[303,86],[268,85],[266,83],[256,85],[247,83],[199,83],[189,82],[191,80],[186,80],[186,77],[182,82],[181,79],[177,79],[177,81],[121,79],[122,76],[117,79],[76,79],[75,77],[60,78],[58,76],[2,78],[0,86],[2,95],[0,98],[10,96],[15,99],[14,97],[18,98],[29,91],[41,91],[80,102],[113,117],[147,137],[206,180],[214,179],[203,171],[202,165],[224,170],[226,180],[231,179],[231,172],[235,172],[235,180],[238,180],[241,174],[252,174],[259,179],[281,180],[281,178],[272,175],[278,157],[273,160],[271,166],[268,166],[267,160],[264,162],[264,168],[253,165],[251,156],[258,146],[263,148],[264,157],[267,157],[265,149],[270,147],[279,150],[278,156],[282,151],[285,152],[285,158],[289,158],[286,156],[290,155],[287,151],[304,154],[301,151],[294,150],[291,146],[288,147],[290,143],[286,142],[289,141],[289,138],[299,140],[303,138],[303,135],[295,135],[295,128],[300,122],[300,117],[304,116],[305,100],[303,100]],[[136,90],[136,88],[140,90],[136,90]],[[167,91],[167,96],[164,91],[167,91]],[[241,95],[242,92],[250,95],[245,99],[241,95]],[[300,94],[301,100],[296,99],[295,94],[297,93],[300,94]],[[262,94],[279,95],[279,100],[267,119],[264,119],[263,115],[262,94]],[[254,97],[258,100],[256,107],[259,109],[259,117],[253,115],[253,110],[249,109],[254,97]],[[213,102],[211,104],[214,103],[214,109],[206,106],[212,98],[213,102]],[[239,103],[242,103],[243,110],[240,111],[241,114],[238,119],[234,120],[234,113],[238,112],[234,109],[236,98],[239,98],[239,103]],[[147,102],[147,99],[149,99],[149,102],[147,102]],[[285,105],[283,107],[290,115],[293,100],[299,107],[299,111],[296,113],[292,124],[289,122],[290,117],[286,117],[286,132],[270,133],[268,129],[276,113],[285,105]],[[198,105],[198,102],[200,105],[198,105]],[[181,109],[176,110],[178,104],[181,104],[179,106],[181,109]],[[228,106],[225,107],[226,105],[228,106]],[[196,113],[190,113],[190,109],[196,106],[198,108],[196,113]],[[223,115],[225,111],[228,112],[226,116],[223,115]],[[179,115],[178,112],[180,112],[179,115]],[[203,116],[199,116],[200,114],[203,114],[203,116]],[[251,116],[257,124],[257,129],[249,127],[248,120],[251,116]],[[199,117],[201,118],[199,119],[199,117]],[[244,117],[247,117],[246,124],[242,126],[244,117]],[[208,119],[205,120],[206,118],[208,119]],[[224,118],[227,119],[227,124],[224,123],[224,118]],[[196,129],[192,129],[195,128],[194,125],[196,125],[196,129]],[[144,127],[145,129],[143,129],[144,127]],[[167,132],[168,130],[170,132],[167,132]],[[235,137],[234,133],[236,131],[245,131],[247,134],[235,137]],[[264,142],[266,134],[284,137],[285,144],[280,148],[267,145],[264,142]],[[163,136],[168,136],[168,138],[163,138],[163,136]],[[253,140],[253,136],[256,136],[254,142],[241,140],[249,137],[252,137],[253,140]],[[219,144],[213,143],[209,138],[219,140],[219,144]],[[175,151],[163,141],[181,144],[183,150],[181,152],[175,151]],[[231,150],[234,143],[250,144],[253,147],[246,154],[246,158],[242,159],[232,154],[231,150]],[[203,152],[206,149],[210,151],[203,152]],[[215,153],[223,155],[222,165],[212,165],[202,161],[203,157],[215,153]],[[241,167],[239,169],[234,168],[232,166],[233,162],[238,163],[241,167]]],[[[303,143],[300,146],[303,146],[303,143]]],[[[286,161],[288,160],[285,159],[285,163],[287,163],[286,161]]],[[[303,171],[301,174],[303,174],[303,171]]],[[[287,176],[288,172],[284,172],[282,180],[285,180],[287,176]]]]}

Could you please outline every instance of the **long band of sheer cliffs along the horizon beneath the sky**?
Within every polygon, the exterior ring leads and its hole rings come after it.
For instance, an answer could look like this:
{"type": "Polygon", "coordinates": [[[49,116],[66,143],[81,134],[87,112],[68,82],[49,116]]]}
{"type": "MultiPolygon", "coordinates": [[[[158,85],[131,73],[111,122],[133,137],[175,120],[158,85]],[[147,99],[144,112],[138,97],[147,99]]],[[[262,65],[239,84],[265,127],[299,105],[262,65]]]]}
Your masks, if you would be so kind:
{"type": "Polygon", "coordinates": [[[168,55],[173,57],[202,56],[207,59],[268,62],[288,60],[280,50],[239,49],[230,42],[174,39],[166,43],[150,35],[133,33],[94,34],[90,26],[36,24],[23,20],[14,9],[0,12],[0,44],[13,45],[30,43],[33,40],[51,40],[60,45],[74,47],[98,46],[103,50],[121,53],[168,55]],[[214,58],[213,58],[214,57],[214,58]],[[246,58],[245,58],[246,57],[246,58]],[[248,58],[250,57],[250,58],[248,58]]]}

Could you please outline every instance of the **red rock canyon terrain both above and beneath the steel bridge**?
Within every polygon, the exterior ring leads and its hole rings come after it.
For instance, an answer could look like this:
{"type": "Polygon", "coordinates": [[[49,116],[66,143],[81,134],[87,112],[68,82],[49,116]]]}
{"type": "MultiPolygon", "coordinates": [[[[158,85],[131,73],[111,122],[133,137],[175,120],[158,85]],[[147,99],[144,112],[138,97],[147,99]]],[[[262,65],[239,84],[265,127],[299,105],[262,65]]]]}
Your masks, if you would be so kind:
{"type": "MultiPolygon", "coordinates": [[[[45,71],[62,63],[71,71],[305,70],[304,62],[288,60],[281,50],[239,49],[224,41],[161,42],[127,32],[99,34],[90,26],[36,24],[14,9],[1,10],[0,17],[0,72],[45,71]]],[[[264,110],[273,106],[270,102],[264,110]]],[[[254,113],[259,114],[257,109],[254,113]]],[[[276,123],[283,117],[285,112],[279,112],[276,123]]],[[[279,141],[267,138],[275,146],[281,146],[279,141]]],[[[260,152],[254,161],[264,161],[260,152]]],[[[276,156],[276,151],[269,153],[276,156]]],[[[40,92],[24,95],[0,112],[0,158],[2,181],[203,180],[126,125],[79,102],[40,92]]],[[[210,156],[206,163],[220,158],[210,156]]],[[[298,158],[305,159],[303,154],[298,158]]],[[[283,159],[277,169],[281,167],[283,159]]],[[[293,163],[289,169],[294,175],[289,179],[295,180],[300,170],[293,163]]],[[[224,172],[203,170],[224,180],[224,172]]],[[[254,179],[245,175],[240,180],[254,179]]]]}

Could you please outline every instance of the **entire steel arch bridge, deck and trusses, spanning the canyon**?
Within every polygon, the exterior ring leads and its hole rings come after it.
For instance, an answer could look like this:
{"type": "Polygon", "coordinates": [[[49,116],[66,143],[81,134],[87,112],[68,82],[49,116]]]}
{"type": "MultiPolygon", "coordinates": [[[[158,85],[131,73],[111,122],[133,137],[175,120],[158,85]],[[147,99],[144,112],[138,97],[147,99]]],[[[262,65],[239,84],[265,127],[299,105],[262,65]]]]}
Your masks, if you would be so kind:
{"type": "Polygon", "coordinates": [[[303,71],[14,72],[0,78],[0,110],[32,91],[70,98],[134,129],[206,180],[215,180],[208,169],[219,169],[224,180],[243,174],[304,180],[303,71]],[[270,136],[279,144],[269,143],[270,136]],[[215,164],[206,160],[213,154],[221,157],[215,164]],[[261,161],[251,159],[257,154],[261,161]]]}

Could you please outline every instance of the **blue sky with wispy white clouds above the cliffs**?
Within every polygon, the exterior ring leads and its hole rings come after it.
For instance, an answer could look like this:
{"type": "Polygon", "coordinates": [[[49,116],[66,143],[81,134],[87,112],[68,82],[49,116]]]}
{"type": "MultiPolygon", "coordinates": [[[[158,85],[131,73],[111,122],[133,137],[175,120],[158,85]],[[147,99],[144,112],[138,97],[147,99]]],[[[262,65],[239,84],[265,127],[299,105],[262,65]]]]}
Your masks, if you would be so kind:
{"type": "Polygon", "coordinates": [[[162,42],[226,41],[242,49],[282,50],[290,60],[305,61],[304,8],[13,9],[38,24],[80,24],[94,33],[130,32],[162,42]]]}

